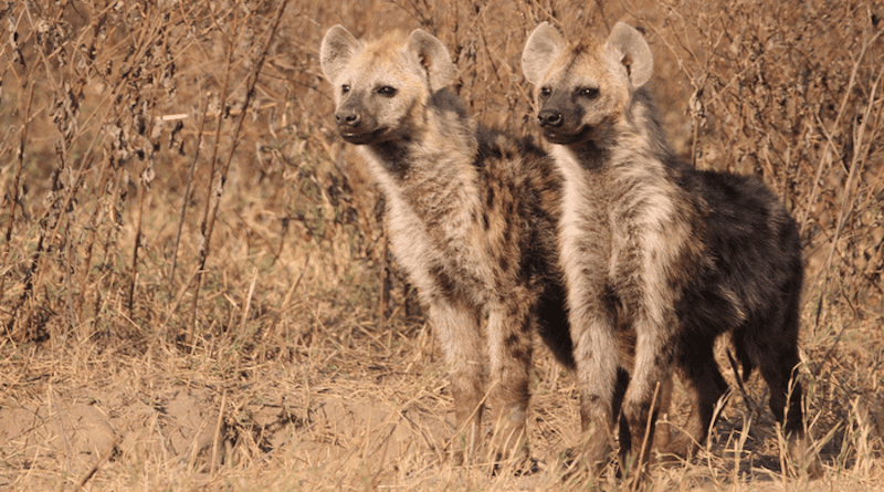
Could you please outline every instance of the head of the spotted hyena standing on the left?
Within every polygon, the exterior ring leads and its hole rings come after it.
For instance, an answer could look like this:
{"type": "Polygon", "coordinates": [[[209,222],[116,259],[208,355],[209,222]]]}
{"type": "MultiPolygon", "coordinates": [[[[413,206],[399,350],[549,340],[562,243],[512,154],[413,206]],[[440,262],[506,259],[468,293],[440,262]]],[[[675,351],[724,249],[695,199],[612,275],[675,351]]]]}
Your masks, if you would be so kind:
{"type": "Polygon", "coordinates": [[[323,73],[335,88],[335,123],[351,144],[380,144],[420,129],[430,96],[455,74],[445,45],[415,29],[408,39],[361,42],[329,29],[319,48],[323,73]]]}

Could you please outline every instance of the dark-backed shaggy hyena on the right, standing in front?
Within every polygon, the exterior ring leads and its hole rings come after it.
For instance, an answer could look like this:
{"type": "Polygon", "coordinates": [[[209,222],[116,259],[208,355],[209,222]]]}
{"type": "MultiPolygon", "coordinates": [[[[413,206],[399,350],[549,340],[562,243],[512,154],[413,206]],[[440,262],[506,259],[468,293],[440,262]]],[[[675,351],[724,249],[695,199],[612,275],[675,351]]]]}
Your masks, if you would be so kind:
{"type": "Polygon", "coordinates": [[[693,452],[727,390],[713,355],[727,333],[743,377],[760,368],[792,457],[818,473],[793,379],[803,266],[787,210],[757,179],[674,156],[648,83],[651,50],[635,29],[618,23],[602,45],[571,44],[544,22],[522,61],[565,178],[560,259],[585,432],[594,425],[586,461],[607,460],[619,418],[621,457],[648,462],[674,369],[693,406],[666,451],[693,452]],[[619,368],[630,374],[622,406],[619,368]]]}

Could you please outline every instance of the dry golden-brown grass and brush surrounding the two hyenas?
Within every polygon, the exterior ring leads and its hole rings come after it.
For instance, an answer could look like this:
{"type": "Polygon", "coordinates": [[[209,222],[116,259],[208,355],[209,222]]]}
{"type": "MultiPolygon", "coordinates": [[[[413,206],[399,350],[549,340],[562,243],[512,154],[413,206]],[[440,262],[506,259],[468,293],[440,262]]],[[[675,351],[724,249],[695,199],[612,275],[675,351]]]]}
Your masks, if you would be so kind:
{"type": "Polygon", "coordinates": [[[825,462],[820,481],[782,473],[754,378],[708,449],[649,488],[874,490],[883,17],[872,0],[0,2],[0,489],[587,486],[555,467],[576,392],[543,350],[540,471],[446,463],[445,367],[316,55],[334,23],[423,27],[481,121],[533,133],[527,33],[625,20],[654,50],[678,151],[762,177],[799,220],[801,373],[825,462]]]}

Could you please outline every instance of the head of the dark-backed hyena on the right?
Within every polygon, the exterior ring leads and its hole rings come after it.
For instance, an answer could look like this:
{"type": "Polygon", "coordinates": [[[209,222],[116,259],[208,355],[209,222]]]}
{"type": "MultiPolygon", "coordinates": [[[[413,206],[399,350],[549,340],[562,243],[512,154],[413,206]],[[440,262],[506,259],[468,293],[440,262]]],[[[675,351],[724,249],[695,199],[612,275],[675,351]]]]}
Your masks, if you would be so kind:
{"type": "Polygon", "coordinates": [[[543,22],[528,38],[522,69],[534,84],[544,136],[569,145],[610,134],[633,92],[651,78],[653,56],[642,34],[622,22],[602,46],[568,43],[543,22]]]}

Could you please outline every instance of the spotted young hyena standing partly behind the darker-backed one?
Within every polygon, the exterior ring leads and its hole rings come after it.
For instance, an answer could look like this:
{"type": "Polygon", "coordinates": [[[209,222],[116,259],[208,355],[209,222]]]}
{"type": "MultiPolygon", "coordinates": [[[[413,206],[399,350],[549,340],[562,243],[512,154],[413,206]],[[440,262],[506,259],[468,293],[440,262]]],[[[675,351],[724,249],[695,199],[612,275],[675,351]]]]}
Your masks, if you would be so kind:
{"type": "Polygon", "coordinates": [[[448,50],[422,30],[364,43],[336,25],[319,54],[338,132],[359,146],[387,198],[393,254],[451,366],[464,444],[455,460],[477,444],[486,390],[494,450],[527,452],[533,332],[573,367],[555,163],[527,140],[477,126],[446,88],[456,70],[448,50]]]}

